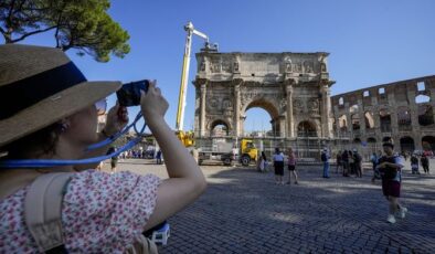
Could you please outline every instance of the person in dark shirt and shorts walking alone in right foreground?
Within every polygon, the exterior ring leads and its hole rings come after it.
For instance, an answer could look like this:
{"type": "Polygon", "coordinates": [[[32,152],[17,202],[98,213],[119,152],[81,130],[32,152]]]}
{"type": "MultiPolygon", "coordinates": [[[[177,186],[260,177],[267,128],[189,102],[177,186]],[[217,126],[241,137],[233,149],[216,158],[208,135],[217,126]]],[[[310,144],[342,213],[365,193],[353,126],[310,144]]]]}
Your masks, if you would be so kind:
{"type": "Polygon", "coordinates": [[[384,142],[382,145],[384,156],[379,159],[378,169],[382,177],[382,192],[389,201],[389,215],[386,221],[395,223],[395,215],[405,218],[407,209],[399,203],[401,195],[403,159],[394,154],[394,145],[384,142]]]}

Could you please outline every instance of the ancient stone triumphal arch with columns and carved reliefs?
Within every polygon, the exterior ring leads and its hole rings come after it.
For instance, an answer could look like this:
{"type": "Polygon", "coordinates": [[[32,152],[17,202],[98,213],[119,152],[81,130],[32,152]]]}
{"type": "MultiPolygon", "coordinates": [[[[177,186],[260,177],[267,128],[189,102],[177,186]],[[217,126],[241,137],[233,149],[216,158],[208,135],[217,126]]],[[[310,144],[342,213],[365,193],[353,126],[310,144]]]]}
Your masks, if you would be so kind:
{"type": "Polygon", "coordinates": [[[261,107],[272,118],[273,136],[330,138],[332,115],[328,53],[197,54],[194,130],[211,137],[224,125],[229,137],[243,137],[245,113],[261,107]]]}

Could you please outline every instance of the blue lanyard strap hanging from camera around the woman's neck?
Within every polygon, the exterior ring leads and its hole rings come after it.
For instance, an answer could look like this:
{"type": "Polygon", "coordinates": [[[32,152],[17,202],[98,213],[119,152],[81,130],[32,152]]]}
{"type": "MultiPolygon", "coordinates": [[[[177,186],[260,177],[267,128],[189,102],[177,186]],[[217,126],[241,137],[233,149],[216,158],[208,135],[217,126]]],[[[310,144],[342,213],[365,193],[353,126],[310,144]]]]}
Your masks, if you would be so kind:
{"type": "MultiPolygon", "coordinates": [[[[78,160],[51,160],[51,159],[25,159],[25,160],[2,160],[0,161],[0,168],[51,168],[51,167],[60,167],[60,166],[72,166],[72,165],[87,165],[87,163],[98,163],[103,160],[109,159],[112,157],[118,156],[123,151],[126,151],[134,146],[136,146],[144,136],[145,128],[147,124],[145,123],[140,131],[138,131],[136,124],[142,117],[142,114],[139,112],[136,116],[135,120],[126,126],[124,130],[118,131],[117,134],[113,135],[112,137],[99,141],[97,144],[91,145],[86,148],[86,151],[91,151],[104,146],[107,146],[118,139],[120,136],[126,134],[131,127],[134,127],[137,137],[128,141],[126,145],[120,147],[118,150],[99,157],[86,158],[86,159],[78,159],[78,160]]],[[[145,119],[144,119],[145,120],[145,119]]]]}

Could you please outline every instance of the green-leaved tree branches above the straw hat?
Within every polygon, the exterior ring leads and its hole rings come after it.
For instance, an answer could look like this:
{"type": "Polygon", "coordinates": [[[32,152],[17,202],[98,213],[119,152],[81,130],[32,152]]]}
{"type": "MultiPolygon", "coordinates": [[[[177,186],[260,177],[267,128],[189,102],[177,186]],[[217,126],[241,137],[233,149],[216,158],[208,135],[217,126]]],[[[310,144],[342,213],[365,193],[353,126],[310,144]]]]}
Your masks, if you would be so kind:
{"type": "Polygon", "coordinates": [[[130,51],[129,35],[107,14],[109,7],[109,0],[1,0],[0,32],[6,43],[15,43],[51,31],[56,47],[108,62],[130,51]]]}

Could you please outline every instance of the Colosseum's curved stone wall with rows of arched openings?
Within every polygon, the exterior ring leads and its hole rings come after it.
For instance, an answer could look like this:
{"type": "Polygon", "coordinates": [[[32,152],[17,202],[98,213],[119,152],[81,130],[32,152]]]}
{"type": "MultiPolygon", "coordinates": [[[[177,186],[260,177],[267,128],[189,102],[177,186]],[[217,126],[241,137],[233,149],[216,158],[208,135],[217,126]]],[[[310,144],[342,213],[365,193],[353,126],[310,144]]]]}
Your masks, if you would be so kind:
{"type": "Polygon", "coordinates": [[[348,146],[375,151],[392,140],[397,151],[435,150],[435,75],[331,96],[333,133],[348,146]]]}

